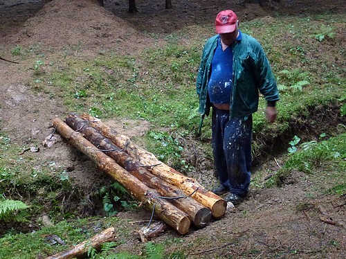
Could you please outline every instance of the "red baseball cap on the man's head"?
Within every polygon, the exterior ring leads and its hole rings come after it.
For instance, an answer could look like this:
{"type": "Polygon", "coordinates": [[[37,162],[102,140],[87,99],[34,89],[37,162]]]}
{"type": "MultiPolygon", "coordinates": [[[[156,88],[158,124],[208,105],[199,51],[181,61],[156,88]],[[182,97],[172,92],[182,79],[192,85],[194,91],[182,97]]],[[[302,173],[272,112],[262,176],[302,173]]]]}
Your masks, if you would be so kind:
{"type": "Polygon", "coordinates": [[[237,28],[237,21],[238,17],[233,10],[219,12],[215,20],[216,33],[233,33],[237,28]]]}

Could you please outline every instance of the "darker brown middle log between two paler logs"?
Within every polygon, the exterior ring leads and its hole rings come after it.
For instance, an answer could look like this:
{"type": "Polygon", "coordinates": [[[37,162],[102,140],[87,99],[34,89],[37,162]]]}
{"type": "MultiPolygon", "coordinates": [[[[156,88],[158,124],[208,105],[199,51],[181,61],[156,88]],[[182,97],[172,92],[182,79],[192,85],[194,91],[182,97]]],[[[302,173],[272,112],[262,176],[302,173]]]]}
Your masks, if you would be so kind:
{"type": "Polygon", "coordinates": [[[169,199],[174,206],[188,214],[194,226],[203,228],[210,222],[212,215],[208,208],[202,206],[191,197],[186,196],[179,188],[167,184],[167,182],[152,175],[147,168],[143,168],[138,161],[120,150],[110,139],[105,138],[100,132],[89,126],[85,120],[82,120],[76,114],[69,114],[66,118],[66,124],[73,130],[79,130],[85,139],[93,143],[97,148],[100,148],[100,150],[109,150],[105,151],[109,157],[114,159],[116,163],[122,166],[122,168],[125,168],[131,175],[134,175],[149,186],[149,188],[157,190],[160,195],[169,199]],[[174,199],[174,197],[181,198],[174,199]]]}

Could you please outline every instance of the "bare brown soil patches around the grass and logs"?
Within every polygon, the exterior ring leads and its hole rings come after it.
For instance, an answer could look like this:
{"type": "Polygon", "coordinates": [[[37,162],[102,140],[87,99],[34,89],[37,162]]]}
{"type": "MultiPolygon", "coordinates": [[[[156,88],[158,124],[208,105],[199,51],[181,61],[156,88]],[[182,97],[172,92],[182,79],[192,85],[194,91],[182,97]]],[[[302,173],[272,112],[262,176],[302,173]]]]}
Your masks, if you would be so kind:
{"type": "MultiPolygon", "coordinates": [[[[174,9],[165,10],[164,1],[138,1],[139,12],[129,14],[125,0],[104,1],[105,8],[91,0],[1,1],[0,55],[12,59],[10,51],[15,46],[27,46],[33,51],[38,46],[49,50],[45,60],[49,63],[64,55],[65,46],[81,43],[82,48],[75,53],[77,60],[93,58],[102,50],[113,50],[118,55],[139,55],[145,48],[160,44],[159,40],[147,37],[148,33],[163,37],[189,27],[193,28],[190,33],[199,33],[198,28],[212,24],[217,12],[225,8],[235,10],[241,22],[275,13],[298,15],[327,10],[345,13],[344,1],[331,0],[282,1],[264,7],[257,3],[242,6],[235,1],[221,0],[172,0],[172,3],[174,9]]],[[[0,60],[1,132],[6,132],[15,143],[35,145],[51,134],[53,118],[64,118],[69,111],[60,100],[30,88],[33,71],[28,68],[33,67],[34,60],[16,61],[20,64],[0,60]]],[[[143,136],[150,127],[145,121],[116,118],[104,123],[130,137],[143,136]],[[128,125],[126,129],[122,127],[123,123],[128,125]]],[[[52,148],[40,146],[37,156],[41,163],[53,161],[57,168],[68,168],[71,179],[78,188],[86,190],[86,196],[87,190],[98,188],[95,183],[107,181],[91,162],[66,145],[60,136],[57,138],[58,142],[52,148]]],[[[277,161],[271,159],[258,170],[277,170],[278,166],[277,161]]],[[[201,170],[192,177],[207,188],[216,183],[212,170],[201,170]]],[[[193,230],[184,236],[167,231],[156,240],[182,238],[179,249],[190,251],[189,258],[346,258],[345,197],[322,195],[321,189],[313,187],[313,181],[318,180],[307,179],[295,172],[291,182],[282,188],[251,190],[248,198],[234,211],[204,229],[193,230]],[[309,195],[315,198],[310,199],[309,195]],[[300,204],[304,206],[300,207],[300,204]],[[338,224],[326,224],[321,217],[331,218],[338,224]]],[[[93,205],[95,211],[96,207],[93,205]]],[[[147,220],[149,213],[139,209],[119,216],[130,221],[147,220]]],[[[139,226],[129,225],[129,228],[136,227],[139,226]]],[[[117,249],[138,253],[135,248],[138,244],[134,235],[117,249]]],[[[171,249],[176,247],[172,245],[171,249]]]]}

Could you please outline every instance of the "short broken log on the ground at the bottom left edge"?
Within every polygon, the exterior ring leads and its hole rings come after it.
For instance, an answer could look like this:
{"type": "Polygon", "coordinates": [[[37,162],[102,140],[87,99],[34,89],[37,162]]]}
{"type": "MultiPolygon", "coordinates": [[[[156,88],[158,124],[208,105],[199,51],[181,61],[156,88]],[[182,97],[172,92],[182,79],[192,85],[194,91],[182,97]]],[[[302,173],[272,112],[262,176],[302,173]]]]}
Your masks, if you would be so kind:
{"type": "Polygon", "coordinates": [[[84,242],[81,242],[66,251],[56,253],[53,256],[48,256],[46,259],[81,258],[88,252],[89,247],[93,247],[96,250],[99,250],[102,243],[111,242],[112,240],[114,240],[115,233],[116,229],[111,227],[98,233],[97,235],[94,235],[89,240],[85,240],[84,242]]]}

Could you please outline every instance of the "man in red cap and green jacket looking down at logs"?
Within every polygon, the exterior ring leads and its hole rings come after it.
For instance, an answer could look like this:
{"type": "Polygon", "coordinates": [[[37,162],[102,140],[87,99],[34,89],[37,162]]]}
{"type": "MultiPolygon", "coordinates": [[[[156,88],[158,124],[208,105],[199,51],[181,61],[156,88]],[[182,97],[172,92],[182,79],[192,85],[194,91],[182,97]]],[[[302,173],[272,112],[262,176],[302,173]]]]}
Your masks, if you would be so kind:
{"type": "Polygon", "coordinates": [[[213,193],[238,204],[248,193],[251,180],[251,135],[259,91],[266,102],[266,118],[277,116],[279,93],[262,46],[242,33],[232,10],[219,12],[217,35],[206,42],[199,72],[199,112],[209,115],[212,107],[212,150],[220,186],[213,193]]]}

